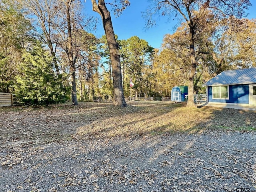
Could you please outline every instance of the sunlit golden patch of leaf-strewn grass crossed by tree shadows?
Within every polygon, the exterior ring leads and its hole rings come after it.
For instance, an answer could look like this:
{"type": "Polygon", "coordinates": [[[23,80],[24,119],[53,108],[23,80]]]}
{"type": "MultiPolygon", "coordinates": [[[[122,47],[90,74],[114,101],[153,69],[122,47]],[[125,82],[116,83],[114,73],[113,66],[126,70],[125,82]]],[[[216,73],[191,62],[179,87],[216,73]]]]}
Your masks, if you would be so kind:
{"type": "Polygon", "coordinates": [[[78,136],[100,134],[104,137],[113,137],[174,132],[192,133],[204,129],[198,125],[211,116],[210,111],[203,113],[201,111],[198,108],[186,108],[170,103],[134,104],[128,108],[113,108],[92,124],[79,127],[77,134],[78,136]]]}

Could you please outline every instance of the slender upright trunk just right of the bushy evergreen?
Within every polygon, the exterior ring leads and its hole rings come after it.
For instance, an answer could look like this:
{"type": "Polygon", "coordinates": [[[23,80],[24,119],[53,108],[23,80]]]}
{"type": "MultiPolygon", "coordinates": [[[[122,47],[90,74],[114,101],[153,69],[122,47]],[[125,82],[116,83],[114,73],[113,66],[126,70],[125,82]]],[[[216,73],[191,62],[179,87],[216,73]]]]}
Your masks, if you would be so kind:
{"type": "Polygon", "coordinates": [[[78,105],[77,96],[76,96],[76,67],[75,61],[73,59],[73,51],[72,51],[72,29],[71,29],[71,21],[70,21],[70,5],[72,0],[67,0],[66,3],[66,16],[68,23],[68,60],[70,64],[70,73],[72,76],[72,104],[78,105]]]}

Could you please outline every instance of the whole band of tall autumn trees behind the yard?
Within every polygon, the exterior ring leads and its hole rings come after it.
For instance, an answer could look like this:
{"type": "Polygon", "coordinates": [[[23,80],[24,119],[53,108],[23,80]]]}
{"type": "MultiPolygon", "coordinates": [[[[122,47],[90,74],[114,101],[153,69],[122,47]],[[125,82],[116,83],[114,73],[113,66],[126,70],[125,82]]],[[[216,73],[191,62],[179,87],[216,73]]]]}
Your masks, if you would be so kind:
{"type": "Polygon", "coordinates": [[[109,10],[120,16],[130,1],[92,4],[102,37],[80,0],[1,1],[0,92],[15,92],[26,104],[103,99],[126,106],[125,97],[170,96],[173,86],[186,85],[193,105],[213,76],[256,67],[256,20],[244,18],[248,0],[149,0],[148,26],[162,15],[180,21],[159,49],[114,34],[109,10]]]}

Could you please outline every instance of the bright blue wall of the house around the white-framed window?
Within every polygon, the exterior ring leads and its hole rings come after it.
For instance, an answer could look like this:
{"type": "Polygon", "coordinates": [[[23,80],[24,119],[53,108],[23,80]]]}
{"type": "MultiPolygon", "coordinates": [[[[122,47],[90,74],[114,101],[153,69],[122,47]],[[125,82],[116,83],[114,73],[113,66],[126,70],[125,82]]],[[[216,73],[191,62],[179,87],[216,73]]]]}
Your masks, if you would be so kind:
{"type": "Polygon", "coordinates": [[[249,104],[249,85],[230,85],[229,99],[212,99],[212,86],[209,86],[208,102],[249,104]]]}

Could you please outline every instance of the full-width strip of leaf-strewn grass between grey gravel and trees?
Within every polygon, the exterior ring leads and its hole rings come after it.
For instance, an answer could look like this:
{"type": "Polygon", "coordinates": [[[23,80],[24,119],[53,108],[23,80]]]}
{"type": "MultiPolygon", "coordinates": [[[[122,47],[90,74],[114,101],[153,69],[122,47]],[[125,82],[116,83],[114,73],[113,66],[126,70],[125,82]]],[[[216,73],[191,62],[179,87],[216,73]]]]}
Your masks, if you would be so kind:
{"type": "Polygon", "coordinates": [[[113,107],[111,102],[3,107],[0,108],[0,143],[256,130],[255,111],[189,108],[171,102],[128,104],[126,108],[113,107]]]}

